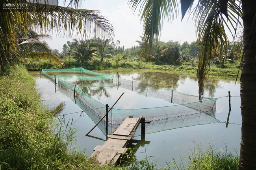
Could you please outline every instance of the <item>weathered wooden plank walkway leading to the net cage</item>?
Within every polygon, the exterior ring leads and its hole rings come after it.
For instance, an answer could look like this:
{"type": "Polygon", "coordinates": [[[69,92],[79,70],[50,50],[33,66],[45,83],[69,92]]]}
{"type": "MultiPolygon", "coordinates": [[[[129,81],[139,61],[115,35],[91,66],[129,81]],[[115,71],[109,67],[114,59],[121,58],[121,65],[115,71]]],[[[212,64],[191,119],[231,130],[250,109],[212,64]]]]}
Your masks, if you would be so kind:
{"type": "Polygon", "coordinates": [[[126,117],[118,128],[109,133],[108,140],[103,145],[93,149],[95,152],[91,157],[95,157],[100,165],[115,164],[127,152],[126,146],[134,137],[141,118],[126,117]]]}

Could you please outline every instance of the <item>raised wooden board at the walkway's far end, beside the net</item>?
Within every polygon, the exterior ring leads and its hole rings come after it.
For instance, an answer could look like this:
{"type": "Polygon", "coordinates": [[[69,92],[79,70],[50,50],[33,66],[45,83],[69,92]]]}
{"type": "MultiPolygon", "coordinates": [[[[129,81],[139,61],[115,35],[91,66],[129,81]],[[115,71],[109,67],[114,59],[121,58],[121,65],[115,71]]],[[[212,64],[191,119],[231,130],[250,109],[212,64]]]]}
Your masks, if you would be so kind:
{"type": "Polygon", "coordinates": [[[137,125],[139,118],[126,117],[124,121],[120,124],[117,130],[114,132],[114,135],[124,135],[129,136],[134,127],[137,125]]]}

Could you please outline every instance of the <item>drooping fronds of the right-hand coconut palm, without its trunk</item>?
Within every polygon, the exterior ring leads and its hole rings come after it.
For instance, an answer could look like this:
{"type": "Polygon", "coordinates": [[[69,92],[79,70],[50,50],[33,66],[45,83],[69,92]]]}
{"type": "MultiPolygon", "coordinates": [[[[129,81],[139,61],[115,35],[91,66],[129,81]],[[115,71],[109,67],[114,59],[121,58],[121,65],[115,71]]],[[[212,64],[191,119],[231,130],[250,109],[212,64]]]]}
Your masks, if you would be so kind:
{"type": "MultiPolygon", "coordinates": [[[[194,0],[128,1],[133,11],[139,7],[139,15],[141,15],[141,21],[143,22],[143,41],[146,42],[141,56],[146,54],[147,60],[150,58],[154,42],[159,39],[163,20],[172,21],[178,11],[178,2],[181,2],[182,5],[183,18],[194,0]]],[[[224,53],[227,51],[228,38],[224,28],[226,27],[228,30],[235,30],[236,32],[237,27],[234,23],[241,25],[239,18],[242,13],[239,3],[240,1],[235,3],[233,0],[225,0],[225,2],[223,0],[198,0],[195,9],[190,12],[197,28],[197,42],[200,44],[200,61],[197,70],[200,100],[203,97],[203,86],[207,69],[210,66],[211,52],[217,48],[224,51],[224,53]],[[228,18],[227,21],[226,18],[228,18]]]]}

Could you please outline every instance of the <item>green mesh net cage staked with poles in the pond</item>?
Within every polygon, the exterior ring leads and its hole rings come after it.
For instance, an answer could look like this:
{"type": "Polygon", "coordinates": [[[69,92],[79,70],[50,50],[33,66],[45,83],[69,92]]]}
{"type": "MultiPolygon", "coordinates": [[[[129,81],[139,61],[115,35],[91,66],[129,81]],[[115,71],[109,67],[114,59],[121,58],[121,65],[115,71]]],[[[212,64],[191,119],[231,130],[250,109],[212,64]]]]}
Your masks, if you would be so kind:
{"type": "MultiPolygon", "coordinates": [[[[42,69],[42,73],[56,84],[61,93],[80,106],[95,123],[106,114],[106,105],[88,95],[90,92],[87,87],[125,88],[146,97],[155,97],[170,102],[170,106],[154,108],[112,108],[108,116],[108,132],[106,132],[106,117],[98,124],[98,128],[105,135],[118,127],[130,115],[143,116],[151,121],[146,125],[146,133],[219,122],[215,118],[217,98],[207,97],[199,102],[198,96],[159,88],[147,82],[125,80],[118,75],[97,73],[84,68],[42,69]]],[[[135,135],[140,135],[140,131],[141,128],[138,128],[135,135]]]]}

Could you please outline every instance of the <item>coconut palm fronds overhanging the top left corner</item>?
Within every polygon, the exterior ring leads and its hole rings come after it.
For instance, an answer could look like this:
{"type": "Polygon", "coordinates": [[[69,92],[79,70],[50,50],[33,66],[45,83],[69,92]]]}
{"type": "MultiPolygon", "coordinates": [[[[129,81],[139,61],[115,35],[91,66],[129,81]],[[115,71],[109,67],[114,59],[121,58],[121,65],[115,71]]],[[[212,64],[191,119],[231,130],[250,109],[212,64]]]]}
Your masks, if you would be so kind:
{"type": "Polygon", "coordinates": [[[55,31],[69,36],[77,33],[82,37],[111,38],[113,27],[108,20],[98,11],[77,9],[80,2],[70,0],[67,7],[61,7],[41,4],[35,0],[4,0],[0,4],[0,71],[7,63],[19,60],[19,37],[15,32],[36,31],[45,34],[55,31]],[[7,7],[7,4],[21,4],[22,7],[7,7]]]}

